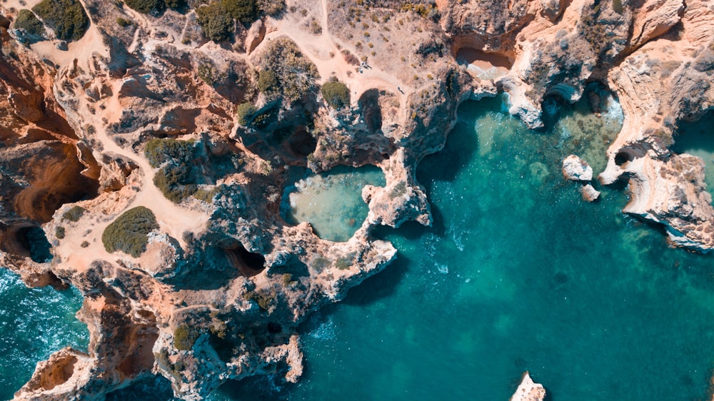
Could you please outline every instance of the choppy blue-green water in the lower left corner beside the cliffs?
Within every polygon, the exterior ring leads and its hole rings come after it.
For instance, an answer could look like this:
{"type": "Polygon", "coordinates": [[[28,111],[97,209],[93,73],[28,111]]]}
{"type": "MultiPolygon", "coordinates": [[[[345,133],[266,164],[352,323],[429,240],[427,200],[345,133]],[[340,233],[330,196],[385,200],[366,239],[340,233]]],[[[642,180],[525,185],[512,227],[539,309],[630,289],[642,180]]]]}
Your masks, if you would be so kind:
{"type": "Polygon", "coordinates": [[[26,288],[0,268],[0,400],[9,400],[35,365],[68,345],[86,351],[89,331],[74,315],[82,304],[75,288],[26,288]]]}

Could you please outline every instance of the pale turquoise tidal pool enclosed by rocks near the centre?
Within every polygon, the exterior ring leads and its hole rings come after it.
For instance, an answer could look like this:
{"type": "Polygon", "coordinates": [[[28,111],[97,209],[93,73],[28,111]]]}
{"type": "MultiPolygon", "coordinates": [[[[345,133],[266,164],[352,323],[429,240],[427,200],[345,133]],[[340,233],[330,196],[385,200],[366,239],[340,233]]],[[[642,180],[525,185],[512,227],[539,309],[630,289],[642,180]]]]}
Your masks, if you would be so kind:
{"type": "Polygon", "coordinates": [[[379,168],[338,166],[309,174],[286,189],[281,212],[288,223],[310,223],[320,238],[344,242],[361,227],[369,208],[362,200],[367,184],[384,186],[379,168]]]}

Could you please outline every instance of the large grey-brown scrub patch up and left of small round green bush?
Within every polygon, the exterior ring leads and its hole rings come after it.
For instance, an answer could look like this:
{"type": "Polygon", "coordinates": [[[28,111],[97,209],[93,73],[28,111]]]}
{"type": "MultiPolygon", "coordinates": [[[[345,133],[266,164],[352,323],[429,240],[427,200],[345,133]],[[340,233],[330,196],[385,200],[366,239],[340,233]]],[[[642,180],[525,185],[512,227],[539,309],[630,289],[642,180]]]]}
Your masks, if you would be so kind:
{"type": "Polygon", "coordinates": [[[270,41],[260,57],[261,71],[277,78],[276,95],[293,103],[315,88],[319,73],[315,64],[301,54],[290,39],[270,41]]]}

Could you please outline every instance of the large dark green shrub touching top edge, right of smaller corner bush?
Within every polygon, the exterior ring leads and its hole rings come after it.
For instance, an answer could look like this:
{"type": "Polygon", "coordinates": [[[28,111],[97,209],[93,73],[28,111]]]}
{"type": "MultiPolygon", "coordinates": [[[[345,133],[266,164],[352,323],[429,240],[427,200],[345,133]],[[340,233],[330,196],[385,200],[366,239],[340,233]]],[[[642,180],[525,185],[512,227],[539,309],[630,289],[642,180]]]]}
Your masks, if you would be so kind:
{"type": "Polygon", "coordinates": [[[76,0],[43,0],[32,11],[65,41],[79,40],[89,29],[89,18],[76,0]]]}

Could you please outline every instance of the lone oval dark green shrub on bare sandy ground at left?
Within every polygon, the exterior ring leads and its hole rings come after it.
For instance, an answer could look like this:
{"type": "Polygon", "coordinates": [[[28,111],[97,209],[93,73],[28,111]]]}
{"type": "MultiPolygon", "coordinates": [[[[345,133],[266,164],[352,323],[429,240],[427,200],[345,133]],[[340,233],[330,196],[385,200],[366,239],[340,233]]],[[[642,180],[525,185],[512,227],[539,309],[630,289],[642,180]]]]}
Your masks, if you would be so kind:
{"type": "Polygon", "coordinates": [[[149,242],[147,235],[151,230],[159,228],[154,212],[144,206],[126,210],[111,224],[107,225],[101,234],[104,249],[112,253],[117,250],[139,258],[146,250],[149,242]]]}

